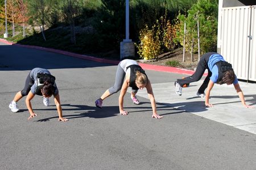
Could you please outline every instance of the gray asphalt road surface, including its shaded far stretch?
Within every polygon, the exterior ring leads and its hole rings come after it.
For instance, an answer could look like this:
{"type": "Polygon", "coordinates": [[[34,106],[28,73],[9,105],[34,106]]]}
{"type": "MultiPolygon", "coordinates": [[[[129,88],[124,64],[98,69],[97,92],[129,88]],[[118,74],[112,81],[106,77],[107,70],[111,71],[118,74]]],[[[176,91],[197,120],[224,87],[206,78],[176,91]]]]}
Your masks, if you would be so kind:
{"type": "MultiPolygon", "coordinates": [[[[128,116],[119,114],[118,94],[96,108],[94,100],[114,83],[115,65],[0,44],[0,169],[256,169],[255,134],[166,103],[157,103],[164,116],[157,120],[146,97],[134,105],[129,93],[128,116]],[[52,98],[45,107],[42,97],[34,97],[38,116],[30,121],[24,98],[20,112],[10,111],[34,67],[56,76],[68,122],[57,121],[52,98]]],[[[166,88],[182,76],[146,73],[152,84],[170,83],[166,88]]]]}

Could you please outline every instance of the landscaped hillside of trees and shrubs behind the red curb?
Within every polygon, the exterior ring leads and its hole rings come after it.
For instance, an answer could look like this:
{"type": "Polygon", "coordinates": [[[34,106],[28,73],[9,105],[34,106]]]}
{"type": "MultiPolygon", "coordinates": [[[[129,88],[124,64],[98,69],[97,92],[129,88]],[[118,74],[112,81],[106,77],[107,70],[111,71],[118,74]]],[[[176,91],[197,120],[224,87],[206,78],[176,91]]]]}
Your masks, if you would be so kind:
{"type": "MultiPolygon", "coordinates": [[[[3,37],[3,0],[0,5],[3,37]]],[[[8,0],[7,23],[9,41],[117,59],[125,39],[125,0],[8,0]]],[[[202,52],[214,50],[216,0],[130,0],[130,39],[137,57],[172,53],[183,46],[184,38],[191,54],[198,51],[198,38],[202,52]]]]}

